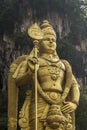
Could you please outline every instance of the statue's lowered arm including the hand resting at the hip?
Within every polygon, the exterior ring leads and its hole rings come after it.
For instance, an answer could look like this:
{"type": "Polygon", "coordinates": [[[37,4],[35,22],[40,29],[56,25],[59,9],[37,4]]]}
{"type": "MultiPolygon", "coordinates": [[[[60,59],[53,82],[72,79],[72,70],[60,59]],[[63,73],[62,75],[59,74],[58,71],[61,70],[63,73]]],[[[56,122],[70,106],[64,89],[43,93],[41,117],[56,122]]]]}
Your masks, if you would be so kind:
{"type": "MultiPolygon", "coordinates": [[[[64,113],[71,113],[76,110],[77,105],[79,103],[80,98],[80,91],[79,91],[79,84],[77,83],[71,69],[68,68],[70,66],[66,61],[63,61],[67,68],[67,84],[65,85],[65,95],[67,95],[66,100],[64,101],[64,106],[62,107],[62,111],[64,113]],[[67,65],[68,64],[68,65],[67,65]],[[69,84],[69,89],[67,90],[67,85],[69,84]]],[[[63,92],[63,94],[64,94],[63,92]]]]}

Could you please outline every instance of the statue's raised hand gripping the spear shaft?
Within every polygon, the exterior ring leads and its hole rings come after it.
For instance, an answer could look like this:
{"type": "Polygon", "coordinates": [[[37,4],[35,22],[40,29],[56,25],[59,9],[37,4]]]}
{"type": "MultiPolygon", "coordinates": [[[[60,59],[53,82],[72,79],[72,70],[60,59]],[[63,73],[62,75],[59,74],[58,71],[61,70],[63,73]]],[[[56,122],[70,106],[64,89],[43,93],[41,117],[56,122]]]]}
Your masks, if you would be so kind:
{"type": "Polygon", "coordinates": [[[35,70],[35,65],[37,64],[37,70],[39,68],[39,59],[36,58],[36,57],[28,57],[27,58],[27,62],[28,62],[28,65],[29,65],[29,68],[31,69],[31,71],[34,71],[35,70]]]}

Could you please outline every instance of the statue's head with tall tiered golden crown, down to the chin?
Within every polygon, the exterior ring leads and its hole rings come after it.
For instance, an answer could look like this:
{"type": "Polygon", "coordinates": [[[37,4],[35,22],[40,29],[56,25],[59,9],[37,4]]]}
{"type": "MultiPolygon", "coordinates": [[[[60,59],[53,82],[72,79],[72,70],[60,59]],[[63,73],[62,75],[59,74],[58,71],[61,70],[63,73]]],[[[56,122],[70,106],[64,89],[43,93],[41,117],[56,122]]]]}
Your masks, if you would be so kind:
{"type": "Polygon", "coordinates": [[[56,33],[47,20],[44,20],[40,26],[43,32],[43,39],[40,43],[42,53],[54,53],[56,50],[56,33]]]}

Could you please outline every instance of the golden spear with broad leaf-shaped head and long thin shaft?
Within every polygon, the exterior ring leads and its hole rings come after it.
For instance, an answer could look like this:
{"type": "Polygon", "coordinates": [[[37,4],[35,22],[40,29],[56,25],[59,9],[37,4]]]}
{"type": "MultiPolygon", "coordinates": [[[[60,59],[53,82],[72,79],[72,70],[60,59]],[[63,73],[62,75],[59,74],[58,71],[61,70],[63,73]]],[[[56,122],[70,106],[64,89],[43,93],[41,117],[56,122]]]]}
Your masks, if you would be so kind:
{"type": "MultiPolygon", "coordinates": [[[[33,39],[34,43],[34,57],[37,57],[38,44],[43,38],[43,33],[37,23],[33,24],[28,29],[28,35],[33,39]]],[[[37,64],[35,64],[35,130],[37,130],[37,64]]]]}

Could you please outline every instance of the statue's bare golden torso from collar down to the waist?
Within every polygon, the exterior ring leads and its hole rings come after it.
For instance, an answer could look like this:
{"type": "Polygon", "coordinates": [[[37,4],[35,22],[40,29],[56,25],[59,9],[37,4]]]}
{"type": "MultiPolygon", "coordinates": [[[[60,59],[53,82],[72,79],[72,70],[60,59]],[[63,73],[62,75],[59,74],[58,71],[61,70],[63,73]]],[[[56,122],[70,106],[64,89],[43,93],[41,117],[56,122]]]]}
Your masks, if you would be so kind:
{"type": "Polygon", "coordinates": [[[38,80],[43,90],[62,92],[65,66],[60,61],[48,61],[40,59],[38,80]]]}

